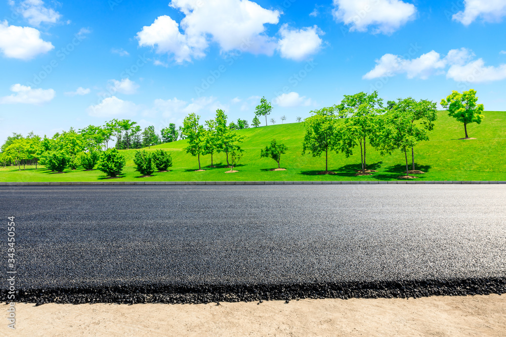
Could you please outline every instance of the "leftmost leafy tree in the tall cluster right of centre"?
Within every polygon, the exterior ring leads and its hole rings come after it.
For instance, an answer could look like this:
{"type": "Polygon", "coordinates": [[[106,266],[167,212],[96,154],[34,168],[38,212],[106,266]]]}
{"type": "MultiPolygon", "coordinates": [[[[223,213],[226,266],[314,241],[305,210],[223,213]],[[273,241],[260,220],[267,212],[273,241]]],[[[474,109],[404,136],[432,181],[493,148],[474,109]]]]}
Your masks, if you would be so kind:
{"type": "Polygon", "coordinates": [[[334,108],[323,108],[312,111],[313,116],[306,118],[302,154],[310,152],[313,157],[320,157],[325,153],[325,171],[328,171],[328,152],[334,149],[335,140],[335,115],[334,108]]]}

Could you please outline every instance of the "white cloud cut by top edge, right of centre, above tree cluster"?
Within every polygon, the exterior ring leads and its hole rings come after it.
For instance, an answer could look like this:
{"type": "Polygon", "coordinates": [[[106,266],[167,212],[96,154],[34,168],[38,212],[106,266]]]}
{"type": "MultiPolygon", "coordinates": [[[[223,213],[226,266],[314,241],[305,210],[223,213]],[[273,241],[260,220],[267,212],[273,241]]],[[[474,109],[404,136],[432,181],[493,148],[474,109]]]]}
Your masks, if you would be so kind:
{"type": "Polygon", "coordinates": [[[333,0],[334,18],[350,31],[390,34],[416,16],[416,7],[400,0],[333,0]]]}

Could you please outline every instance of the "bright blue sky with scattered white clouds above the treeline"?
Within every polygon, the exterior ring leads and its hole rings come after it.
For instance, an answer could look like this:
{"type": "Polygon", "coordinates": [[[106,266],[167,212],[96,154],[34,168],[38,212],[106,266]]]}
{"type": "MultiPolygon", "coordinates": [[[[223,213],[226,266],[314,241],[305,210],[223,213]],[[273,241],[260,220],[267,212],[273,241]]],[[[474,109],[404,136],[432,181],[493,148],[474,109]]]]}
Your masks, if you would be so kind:
{"type": "Polygon", "coordinates": [[[504,111],[506,0],[0,0],[0,141],[217,108],[280,123],[378,90],[504,111]]]}

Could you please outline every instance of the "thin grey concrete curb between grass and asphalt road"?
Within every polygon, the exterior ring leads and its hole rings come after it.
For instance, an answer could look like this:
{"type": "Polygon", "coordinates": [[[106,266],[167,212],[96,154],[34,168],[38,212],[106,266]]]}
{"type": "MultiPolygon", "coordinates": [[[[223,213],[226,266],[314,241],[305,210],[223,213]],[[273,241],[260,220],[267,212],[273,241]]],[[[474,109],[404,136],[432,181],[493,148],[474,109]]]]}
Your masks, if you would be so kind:
{"type": "Polygon", "coordinates": [[[382,184],[506,184],[506,181],[64,181],[64,182],[0,182],[0,186],[53,185],[382,185],[382,184]]]}

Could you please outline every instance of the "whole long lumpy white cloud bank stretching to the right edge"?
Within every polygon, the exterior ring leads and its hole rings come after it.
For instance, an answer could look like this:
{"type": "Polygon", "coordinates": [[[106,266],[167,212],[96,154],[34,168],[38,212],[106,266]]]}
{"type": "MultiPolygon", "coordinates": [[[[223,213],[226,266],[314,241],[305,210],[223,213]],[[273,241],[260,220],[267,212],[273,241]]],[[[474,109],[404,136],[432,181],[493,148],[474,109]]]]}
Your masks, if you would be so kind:
{"type": "Polygon", "coordinates": [[[376,60],[376,66],[363,76],[364,79],[392,77],[406,74],[407,78],[427,79],[432,74],[445,74],[457,82],[483,83],[506,79],[506,64],[498,67],[485,66],[483,59],[473,60],[475,54],[470,50],[454,49],[442,58],[432,51],[414,60],[406,60],[399,55],[386,54],[376,60]],[[448,69],[446,71],[446,69],[448,69]]]}

